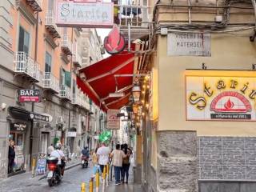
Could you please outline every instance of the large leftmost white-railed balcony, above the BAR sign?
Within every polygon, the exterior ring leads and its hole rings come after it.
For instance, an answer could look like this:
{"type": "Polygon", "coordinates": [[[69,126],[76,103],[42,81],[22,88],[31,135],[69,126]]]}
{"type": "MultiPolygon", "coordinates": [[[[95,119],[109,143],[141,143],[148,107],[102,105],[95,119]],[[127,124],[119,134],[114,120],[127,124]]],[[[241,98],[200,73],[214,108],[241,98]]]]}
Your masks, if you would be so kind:
{"type": "Polygon", "coordinates": [[[14,54],[14,73],[28,78],[31,82],[39,82],[40,79],[38,63],[23,51],[14,54]]]}

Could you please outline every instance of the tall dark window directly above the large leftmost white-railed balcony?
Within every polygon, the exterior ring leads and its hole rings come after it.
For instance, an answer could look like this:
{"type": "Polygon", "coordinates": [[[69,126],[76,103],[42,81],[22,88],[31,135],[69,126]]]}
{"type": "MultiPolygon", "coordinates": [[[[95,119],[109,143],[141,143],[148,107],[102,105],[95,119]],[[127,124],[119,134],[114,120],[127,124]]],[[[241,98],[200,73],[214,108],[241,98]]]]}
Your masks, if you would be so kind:
{"type": "Polygon", "coordinates": [[[30,34],[20,26],[18,35],[18,51],[24,51],[26,54],[29,54],[29,50],[30,34]]]}

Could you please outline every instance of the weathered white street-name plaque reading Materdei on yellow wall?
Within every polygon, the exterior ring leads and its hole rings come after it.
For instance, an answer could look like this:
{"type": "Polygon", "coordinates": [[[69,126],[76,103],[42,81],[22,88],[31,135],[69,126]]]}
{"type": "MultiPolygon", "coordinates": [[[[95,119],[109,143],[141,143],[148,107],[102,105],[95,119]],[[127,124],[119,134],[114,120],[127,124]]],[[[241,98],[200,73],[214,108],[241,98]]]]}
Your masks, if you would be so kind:
{"type": "Polygon", "coordinates": [[[210,34],[168,34],[167,54],[170,56],[210,57],[210,34]]]}

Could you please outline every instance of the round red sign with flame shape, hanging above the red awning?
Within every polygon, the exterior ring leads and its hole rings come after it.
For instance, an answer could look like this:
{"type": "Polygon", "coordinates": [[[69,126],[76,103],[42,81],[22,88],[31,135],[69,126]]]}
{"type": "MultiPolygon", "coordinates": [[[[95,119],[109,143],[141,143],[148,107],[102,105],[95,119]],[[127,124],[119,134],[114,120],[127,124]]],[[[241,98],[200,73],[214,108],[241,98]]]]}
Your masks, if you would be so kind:
{"type": "Polygon", "coordinates": [[[110,34],[104,39],[104,47],[108,54],[118,54],[125,49],[126,41],[117,25],[113,26],[110,34]]]}

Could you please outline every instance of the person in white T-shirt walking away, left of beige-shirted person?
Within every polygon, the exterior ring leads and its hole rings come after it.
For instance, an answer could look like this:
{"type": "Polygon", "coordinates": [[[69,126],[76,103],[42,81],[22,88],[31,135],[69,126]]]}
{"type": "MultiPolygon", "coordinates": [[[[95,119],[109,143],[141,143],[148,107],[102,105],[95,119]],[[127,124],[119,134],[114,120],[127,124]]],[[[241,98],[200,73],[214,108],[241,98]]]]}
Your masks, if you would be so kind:
{"type": "Polygon", "coordinates": [[[110,148],[106,146],[105,142],[102,142],[102,146],[97,150],[98,165],[103,173],[104,166],[109,162],[110,148]]]}

